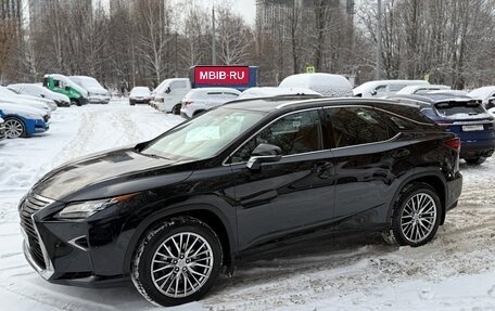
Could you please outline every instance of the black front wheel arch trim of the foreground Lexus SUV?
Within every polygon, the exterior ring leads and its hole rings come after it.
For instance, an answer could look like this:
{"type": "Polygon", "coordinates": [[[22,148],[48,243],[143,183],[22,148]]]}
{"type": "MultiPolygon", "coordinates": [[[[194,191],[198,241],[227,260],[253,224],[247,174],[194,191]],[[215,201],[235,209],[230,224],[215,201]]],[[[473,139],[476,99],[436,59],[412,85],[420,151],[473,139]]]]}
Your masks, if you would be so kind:
{"type": "Polygon", "coordinates": [[[187,205],[181,207],[175,207],[173,210],[166,209],[163,211],[150,215],[140,222],[136,229],[132,237],[127,246],[126,255],[124,258],[124,273],[130,273],[134,254],[139,246],[139,242],[145,236],[147,232],[160,225],[167,219],[177,217],[190,217],[195,218],[207,225],[210,225],[220,239],[221,247],[224,250],[224,265],[226,272],[230,274],[233,271],[234,257],[237,254],[237,238],[234,235],[234,228],[230,224],[227,218],[218,211],[218,209],[211,205],[187,205]]]}

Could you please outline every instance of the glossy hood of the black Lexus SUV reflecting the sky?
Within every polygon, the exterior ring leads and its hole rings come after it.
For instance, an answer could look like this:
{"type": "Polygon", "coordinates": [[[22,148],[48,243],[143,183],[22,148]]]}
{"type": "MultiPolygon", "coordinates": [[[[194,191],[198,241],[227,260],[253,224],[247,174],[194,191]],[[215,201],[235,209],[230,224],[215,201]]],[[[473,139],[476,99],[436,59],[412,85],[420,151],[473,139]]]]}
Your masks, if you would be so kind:
{"type": "Polygon", "coordinates": [[[33,192],[60,202],[90,200],[178,183],[190,166],[141,155],[132,147],[106,151],[66,163],[47,173],[33,192]]]}

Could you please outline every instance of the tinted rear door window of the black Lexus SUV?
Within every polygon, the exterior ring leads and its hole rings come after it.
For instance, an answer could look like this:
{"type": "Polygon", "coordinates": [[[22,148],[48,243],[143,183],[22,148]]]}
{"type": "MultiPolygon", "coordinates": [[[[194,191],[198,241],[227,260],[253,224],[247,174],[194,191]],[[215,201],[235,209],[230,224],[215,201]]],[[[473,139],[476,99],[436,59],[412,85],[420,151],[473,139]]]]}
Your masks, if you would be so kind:
{"type": "Polygon", "coordinates": [[[384,117],[371,108],[327,108],[334,147],[345,147],[386,141],[394,134],[384,117]]]}

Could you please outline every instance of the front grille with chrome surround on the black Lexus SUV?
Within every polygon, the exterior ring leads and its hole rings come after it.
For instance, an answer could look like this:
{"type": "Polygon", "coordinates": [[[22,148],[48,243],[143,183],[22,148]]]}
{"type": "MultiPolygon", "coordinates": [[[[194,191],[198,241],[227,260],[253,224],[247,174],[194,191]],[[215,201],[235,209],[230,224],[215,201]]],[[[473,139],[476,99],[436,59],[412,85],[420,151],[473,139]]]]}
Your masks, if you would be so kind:
{"type": "Polygon", "coordinates": [[[45,259],[43,259],[43,252],[41,250],[41,245],[39,242],[39,236],[38,233],[35,230],[35,225],[33,223],[31,216],[37,212],[38,210],[45,208],[47,205],[49,205],[49,200],[45,200],[43,198],[39,196],[27,196],[22,205],[21,209],[21,225],[23,226],[24,231],[27,234],[28,238],[28,244],[29,244],[29,251],[33,256],[33,259],[36,261],[36,263],[42,268],[46,269],[45,264],[45,259]]]}

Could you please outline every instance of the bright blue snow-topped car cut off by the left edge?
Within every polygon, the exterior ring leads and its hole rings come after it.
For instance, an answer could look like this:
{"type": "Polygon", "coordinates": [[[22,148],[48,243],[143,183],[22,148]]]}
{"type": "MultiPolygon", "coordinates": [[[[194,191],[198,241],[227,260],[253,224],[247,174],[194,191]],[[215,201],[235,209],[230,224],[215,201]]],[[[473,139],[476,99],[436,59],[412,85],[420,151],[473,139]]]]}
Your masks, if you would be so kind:
{"type": "Polygon", "coordinates": [[[8,139],[25,138],[49,129],[43,112],[10,103],[0,103],[0,118],[4,120],[8,139]]]}

